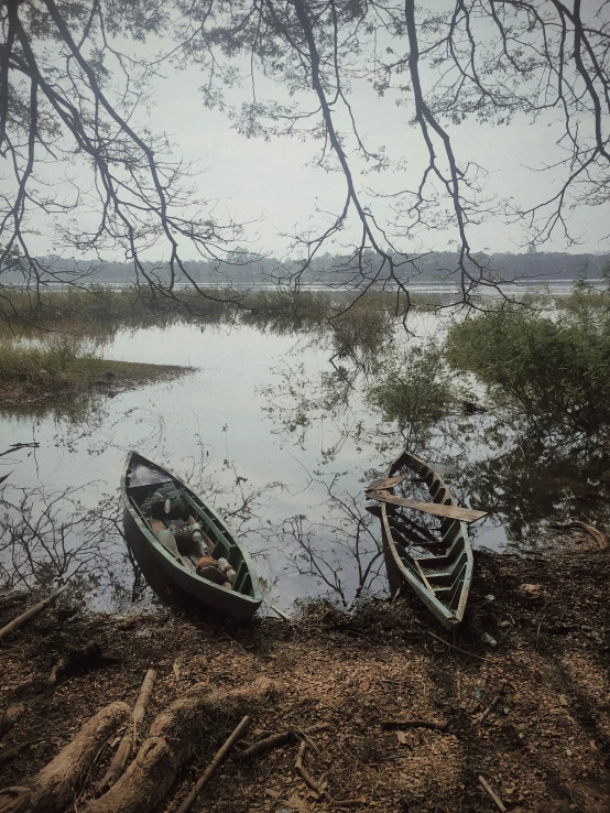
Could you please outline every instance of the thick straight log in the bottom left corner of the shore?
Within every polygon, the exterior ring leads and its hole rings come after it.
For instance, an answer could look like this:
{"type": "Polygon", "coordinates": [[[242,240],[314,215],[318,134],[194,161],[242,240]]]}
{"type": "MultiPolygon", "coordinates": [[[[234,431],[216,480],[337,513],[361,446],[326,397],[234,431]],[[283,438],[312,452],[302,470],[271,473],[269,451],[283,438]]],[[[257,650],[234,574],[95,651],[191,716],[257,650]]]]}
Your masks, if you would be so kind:
{"type": "Polygon", "coordinates": [[[129,714],[127,703],[111,703],[94,715],[76,737],[23,787],[0,791],[0,813],[59,813],[74,798],[99,749],[129,714]]]}

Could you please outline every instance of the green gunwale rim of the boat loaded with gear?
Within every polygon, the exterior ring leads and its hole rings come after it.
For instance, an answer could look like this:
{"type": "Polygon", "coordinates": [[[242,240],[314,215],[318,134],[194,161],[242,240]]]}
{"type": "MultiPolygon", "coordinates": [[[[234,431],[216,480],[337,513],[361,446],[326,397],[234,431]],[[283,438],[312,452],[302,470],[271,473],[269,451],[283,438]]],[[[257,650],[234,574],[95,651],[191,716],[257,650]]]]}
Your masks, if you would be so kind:
{"type": "MultiPolygon", "coordinates": [[[[249,573],[250,579],[252,582],[252,593],[254,595],[249,596],[249,595],[246,595],[243,593],[240,593],[239,590],[226,590],[222,586],[220,586],[220,585],[218,585],[218,584],[216,584],[214,582],[210,582],[208,578],[205,578],[204,576],[199,576],[198,573],[195,573],[195,572],[188,570],[187,567],[185,567],[181,562],[178,562],[175,559],[175,556],[164,545],[161,544],[161,542],[156,539],[156,536],[154,535],[154,533],[152,532],[152,530],[149,528],[149,525],[142,520],[142,518],[139,516],[139,513],[134,510],[134,508],[132,506],[132,502],[131,502],[131,498],[130,498],[130,495],[129,495],[129,486],[127,485],[127,474],[128,474],[130,462],[131,462],[131,459],[133,458],[134,455],[137,455],[144,463],[152,464],[155,468],[157,468],[157,469],[164,471],[165,474],[167,474],[172,478],[172,480],[174,483],[178,484],[181,486],[181,488],[185,488],[193,497],[195,497],[196,500],[199,500],[199,501],[201,501],[201,500],[200,500],[199,497],[197,497],[197,495],[195,494],[195,491],[193,491],[193,489],[189,488],[186,485],[186,483],[184,483],[173,471],[171,471],[170,469],[165,468],[164,466],[161,466],[157,463],[153,463],[153,460],[149,460],[149,458],[146,458],[143,455],[141,455],[140,452],[135,452],[134,449],[132,449],[132,451],[129,452],[129,454],[128,454],[128,456],[126,458],[126,463],[124,463],[124,466],[123,466],[122,474],[121,474],[121,496],[123,498],[123,503],[124,503],[127,510],[129,511],[130,517],[132,518],[132,520],[138,525],[138,529],[140,530],[141,533],[143,533],[146,542],[153,549],[153,551],[155,553],[155,556],[157,559],[161,559],[160,564],[165,570],[165,572],[167,573],[167,575],[172,579],[175,581],[175,576],[173,575],[173,571],[179,568],[179,572],[181,573],[186,574],[192,579],[194,579],[194,582],[200,583],[206,588],[214,588],[213,589],[213,594],[217,594],[222,599],[226,599],[227,597],[237,598],[238,600],[241,600],[241,601],[247,603],[247,604],[255,604],[257,605],[257,609],[258,609],[258,607],[260,607],[260,605],[262,603],[262,593],[261,593],[261,588],[260,588],[260,584],[259,584],[259,576],[258,576],[257,571],[254,568],[252,559],[250,556],[250,553],[246,550],[246,546],[242,545],[238,541],[238,539],[235,536],[233,532],[227,525],[227,523],[225,522],[225,520],[222,520],[216,513],[216,511],[213,508],[210,508],[207,503],[205,503],[206,510],[211,513],[211,516],[220,523],[220,525],[224,529],[226,529],[228,535],[230,536],[230,540],[239,549],[239,552],[242,555],[243,561],[246,562],[246,566],[248,568],[248,573],[249,573]]],[[[184,588],[182,588],[182,589],[184,589],[184,588]]]]}

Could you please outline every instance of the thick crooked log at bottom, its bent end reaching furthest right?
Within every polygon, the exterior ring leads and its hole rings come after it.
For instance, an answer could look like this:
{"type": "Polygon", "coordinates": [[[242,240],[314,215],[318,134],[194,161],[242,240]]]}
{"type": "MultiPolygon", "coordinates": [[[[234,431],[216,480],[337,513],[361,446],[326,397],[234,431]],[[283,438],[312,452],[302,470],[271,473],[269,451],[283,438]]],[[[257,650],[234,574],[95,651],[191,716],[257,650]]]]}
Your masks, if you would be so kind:
{"type": "Polygon", "coordinates": [[[200,731],[218,718],[218,712],[235,714],[272,689],[264,678],[224,693],[210,691],[207,684],[193,686],[154,718],[135,759],[86,813],[148,813],[165,796],[200,731]]]}

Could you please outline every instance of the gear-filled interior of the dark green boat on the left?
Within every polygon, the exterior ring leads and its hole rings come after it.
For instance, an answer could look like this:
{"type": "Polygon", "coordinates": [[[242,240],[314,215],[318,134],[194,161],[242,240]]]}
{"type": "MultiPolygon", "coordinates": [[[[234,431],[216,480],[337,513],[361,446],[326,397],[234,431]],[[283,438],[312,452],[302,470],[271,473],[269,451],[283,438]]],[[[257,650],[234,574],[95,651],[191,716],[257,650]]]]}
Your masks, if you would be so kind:
{"type": "MultiPolygon", "coordinates": [[[[244,596],[253,596],[252,577],[240,546],[225,524],[189,489],[173,479],[167,471],[139,462],[128,468],[126,490],[133,510],[146,524],[152,535],[154,535],[152,527],[154,518],[151,511],[153,495],[171,500],[172,510],[165,522],[171,530],[179,525],[188,525],[193,519],[198,522],[211,542],[211,556],[216,560],[226,559],[236,571],[232,590],[244,596]]],[[[195,563],[201,554],[194,546],[188,534],[177,532],[175,541],[179,555],[173,553],[167,546],[165,549],[174,555],[176,564],[192,571],[195,578],[201,578],[195,573],[195,563]]],[[[203,581],[207,582],[207,579],[203,581]]]]}

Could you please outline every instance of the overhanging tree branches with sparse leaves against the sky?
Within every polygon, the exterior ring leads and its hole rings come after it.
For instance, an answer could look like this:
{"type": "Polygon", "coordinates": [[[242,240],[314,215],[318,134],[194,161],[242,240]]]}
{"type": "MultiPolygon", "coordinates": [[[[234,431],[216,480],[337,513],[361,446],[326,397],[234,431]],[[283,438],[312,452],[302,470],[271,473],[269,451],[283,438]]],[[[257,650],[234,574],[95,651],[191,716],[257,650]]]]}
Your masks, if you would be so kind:
{"type": "Polygon", "coordinates": [[[185,252],[240,262],[242,225],[195,199],[192,169],[173,160],[164,134],[132,123],[171,63],[199,66],[201,105],[226,111],[243,136],[315,139],[318,165],[342,173],[342,207],[319,231],[294,235],[296,279],[329,239],[349,234],[339,262],[353,282],[394,285],[409,302],[404,270],[418,258],[411,247],[442,230],[457,243],[444,270],[468,302],[499,281],[471,245],[481,220],[524,224],[531,246],[557,234],[570,243],[570,210],[609,203],[608,0],[429,9],[414,0],[2,0],[0,24],[0,271],[22,269],[34,288],[54,274],[30,248],[41,217],[80,254],[120,250],[137,280],[162,294],[178,274],[197,286],[185,252]],[[239,83],[249,99],[236,107],[227,93],[239,83]],[[391,97],[388,127],[402,127],[394,104],[407,108],[405,139],[417,134],[427,155],[415,184],[401,184],[404,165],[369,144],[352,105],[359,83],[391,97]],[[451,138],[469,119],[516,116],[560,124],[558,138],[549,130],[559,159],[546,167],[556,189],[527,207],[491,197],[482,162],[464,160],[451,138]],[[388,169],[397,191],[375,192],[371,173],[388,169]],[[168,281],[143,262],[153,249],[167,258],[168,281]]]}

